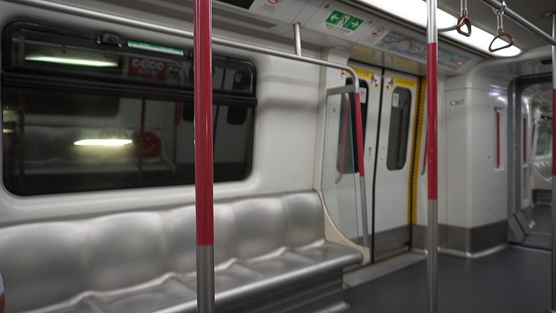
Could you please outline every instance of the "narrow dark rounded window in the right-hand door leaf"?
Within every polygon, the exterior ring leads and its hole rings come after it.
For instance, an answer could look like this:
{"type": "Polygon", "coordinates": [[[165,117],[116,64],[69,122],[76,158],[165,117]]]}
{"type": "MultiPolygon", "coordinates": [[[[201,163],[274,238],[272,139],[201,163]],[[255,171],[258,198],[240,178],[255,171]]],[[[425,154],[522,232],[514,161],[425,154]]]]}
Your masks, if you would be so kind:
{"type": "Polygon", "coordinates": [[[388,156],[386,157],[386,167],[389,170],[400,170],[405,165],[410,114],[411,91],[407,88],[396,87],[392,93],[388,156]]]}

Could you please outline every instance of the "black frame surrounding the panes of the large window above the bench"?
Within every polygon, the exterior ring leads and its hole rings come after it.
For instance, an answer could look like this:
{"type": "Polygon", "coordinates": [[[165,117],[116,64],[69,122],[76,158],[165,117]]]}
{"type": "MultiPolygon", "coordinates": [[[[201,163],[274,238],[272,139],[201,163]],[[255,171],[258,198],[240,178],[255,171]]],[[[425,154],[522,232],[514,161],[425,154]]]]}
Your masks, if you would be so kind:
{"type": "MultiPolygon", "coordinates": [[[[19,29],[29,29],[33,31],[40,31],[44,33],[51,33],[55,35],[67,35],[83,40],[97,40],[99,36],[104,35],[104,33],[95,33],[92,31],[84,31],[81,29],[72,29],[65,26],[56,26],[53,24],[42,24],[39,22],[29,22],[29,21],[15,21],[7,24],[1,33],[2,47],[2,58],[1,58],[1,83],[2,92],[4,88],[44,88],[47,90],[65,90],[71,88],[72,92],[75,93],[85,93],[85,94],[99,94],[99,95],[113,95],[116,97],[134,97],[134,98],[144,98],[144,99],[156,99],[163,101],[177,101],[182,103],[193,103],[193,77],[191,78],[192,83],[186,85],[178,84],[168,84],[161,81],[138,81],[132,79],[126,79],[125,77],[94,77],[91,74],[79,74],[75,72],[63,72],[63,71],[52,71],[45,70],[38,67],[25,67],[19,66],[13,63],[12,58],[12,39],[13,33],[19,29]]],[[[118,36],[122,38],[121,36],[118,36]]],[[[126,44],[127,41],[140,41],[133,39],[124,39],[122,42],[126,44]]],[[[154,45],[158,45],[157,42],[149,42],[154,45]]],[[[161,46],[165,46],[161,44],[161,46]]],[[[193,62],[193,52],[191,48],[178,47],[177,49],[182,49],[184,51],[183,58],[190,58],[193,62]]],[[[213,105],[214,106],[237,106],[241,108],[247,108],[253,110],[253,117],[251,121],[251,129],[249,130],[248,136],[248,149],[247,160],[246,160],[246,171],[245,175],[238,177],[237,179],[224,179],[218,180],[215,177],[216,182],[231,182],[231,181],[242,181],[250,176],[253,170],[253,159],[254,159],[254,130],[256,123],[256,81],[257,73],[256,67],[251,61],[230,58],[227,56],[213,55],[213,66],[218,64],[233,64],[242,67],[247,67],[251,70],[252,81],[251,81],[251,91],[240,91],[240,90],[213,90],[213,105]]],[[[6,165],[4,165],[6,166],[6,165]]],[[[216,164],[215,164],[216,166],[216,164]]],[[[6,179],[6,174],[3,173],[3,181],[6,179]]],[[[22,179],[26,179],[23,177],[22,179]]],[[[88,192],[88,191],[107,191],[116,189],[130,189],[130,188],[156,188],[158,186],[187,186],[193,185],[195,182],[190,184],[181,184],[174,182],[174,184],[161,184],[156,186],[121,186],[115,188],[90,188],[87,190],[77,190],[77,191],[54,191],[45,193],[31,193],[29,195],[44,195],[44,194],[63,194],[63,193],[74,193],[74,192],[88,192]]],[[[9,192],[6,184],[4,188],[9,192]]],[[[20,195],[20,193],[15,193],[20,195]]],[[[27,194],[22,194],[27,195],[27,194]]]]}

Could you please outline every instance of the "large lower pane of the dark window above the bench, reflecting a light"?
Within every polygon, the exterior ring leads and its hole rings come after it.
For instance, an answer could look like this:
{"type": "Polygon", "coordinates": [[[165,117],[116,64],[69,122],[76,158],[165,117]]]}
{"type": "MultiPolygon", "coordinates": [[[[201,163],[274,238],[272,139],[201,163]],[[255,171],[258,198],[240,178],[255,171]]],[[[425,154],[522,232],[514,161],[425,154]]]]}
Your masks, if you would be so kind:
{"type": "MultiPolygon", "coordinates": [[[[103,96],[117,115],[62,111],[86,108],[81,101],[90,104],[97,97],[4,88],[3,173],[9,191],[30,195],[193,184],[193,121],[181,119],[180,111],[192,107],[191,100],[103,96]],[[55,113],[31,109],[57,95],[62,97],[55,113]]],[[[215,182],[243,179],[251,166],[254,108],[244,107],[238,118],[236,107],[217,102],[215,182]]]]}

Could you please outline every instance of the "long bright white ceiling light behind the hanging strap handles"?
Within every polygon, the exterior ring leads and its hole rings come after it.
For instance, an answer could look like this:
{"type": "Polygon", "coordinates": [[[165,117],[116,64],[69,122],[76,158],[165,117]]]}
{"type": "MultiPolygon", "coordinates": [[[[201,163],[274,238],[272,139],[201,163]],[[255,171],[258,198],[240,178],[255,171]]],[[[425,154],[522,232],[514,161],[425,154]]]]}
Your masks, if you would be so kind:
{"type": "MultiPolygon", "coordinates": [[[[400,17],[409,22],[418,24],[419,26],[427,27],[427,3],[425,1],[418,0],[361,0],[364,3],[368,3],[374,8],[384,10],[389,12],[396,17],[400,17]]],[[[439,29],[447,29],[455,26],[457,23],[457,17],[454,17],[450,13],[446,13],[441,9],[436,9],[436,26],[439,29]]],[[[471,46],[478,49],[486,54],[492,56],[516,56],[521,54],[521,49],[516,46],[512,46],[506,49],[498,50],[496,52],[489,51],[489,45],[491,44],[494,35],[487,33],[486,31],[473,25],[471,31],[471,37],[464,37],[457,33],[457,31],[447,31],[442,32],[442,35],[453,39],[457,42],[461,42],[464,45],[471,46]]],[[[502,45],[507,45],[507,42],[498,39],[494,43],[494,47],[500,47],[502,45]]]]}

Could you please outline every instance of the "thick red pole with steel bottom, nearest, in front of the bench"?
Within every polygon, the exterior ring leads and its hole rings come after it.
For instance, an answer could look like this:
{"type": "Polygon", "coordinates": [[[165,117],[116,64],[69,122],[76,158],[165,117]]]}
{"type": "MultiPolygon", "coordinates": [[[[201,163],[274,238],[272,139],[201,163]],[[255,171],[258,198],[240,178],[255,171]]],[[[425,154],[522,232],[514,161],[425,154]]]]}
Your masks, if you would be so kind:
{"type": "Polygon", "coordinates": [[[212,1],[193,4],[197,312],[214,312],[212,1]]]}

